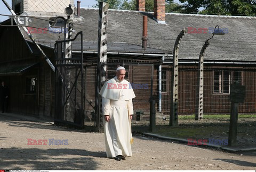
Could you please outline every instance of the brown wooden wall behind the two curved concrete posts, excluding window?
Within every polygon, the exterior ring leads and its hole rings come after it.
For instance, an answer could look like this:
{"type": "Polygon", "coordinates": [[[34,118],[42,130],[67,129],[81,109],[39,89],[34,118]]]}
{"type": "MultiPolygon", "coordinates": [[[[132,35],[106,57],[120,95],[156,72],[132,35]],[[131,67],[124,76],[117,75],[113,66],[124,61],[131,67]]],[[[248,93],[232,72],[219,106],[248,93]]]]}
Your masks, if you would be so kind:
{"type": "MultiPolygon", "coordinates": [[[[169,66],[170,68],[172,66],[169,66]]],[[[229,94],[213,93],[213,71],[228,70],[241,71],[242,84],[246,87],[245,101],[239,104],[239,113],[256,113],[256,68],[248,65],[204,65],[204,114],[230,114],[231,102],[229,94]]],[[[171,70],[169,73],[169,84],[171,85],[171,70]]],[[[180,115],[195,114],[196,106],[196,85],[197,85],[197,65],[179,65],[179,109],[180,115]]],[[[169,86],[170,88],[170,86],[169,86]]],[[[170,113],[170,92],[162,95],[163,113],[170,113]]]]}

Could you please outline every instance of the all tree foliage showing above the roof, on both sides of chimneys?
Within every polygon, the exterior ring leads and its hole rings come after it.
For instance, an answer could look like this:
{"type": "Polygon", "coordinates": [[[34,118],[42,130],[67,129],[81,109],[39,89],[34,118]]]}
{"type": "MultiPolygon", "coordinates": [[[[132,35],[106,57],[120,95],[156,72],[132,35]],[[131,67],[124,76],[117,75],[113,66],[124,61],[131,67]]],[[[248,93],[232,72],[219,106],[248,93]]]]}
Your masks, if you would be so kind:
{"type": "MultiPolygon", "coordinates": [[[[110,9],[137,10],[136,0],[96,0],[106,2],[110,9]]],[[[256,15],[255,0],[165,0],[165,11],[170,13],[193,13],[193,14],[212,14],[212,15],[256,15]],[[202,10],[203,9],[203,10],[202,10]]],[[[154,0],[146,0],[146,11],[154,11],[154,0]]]]}

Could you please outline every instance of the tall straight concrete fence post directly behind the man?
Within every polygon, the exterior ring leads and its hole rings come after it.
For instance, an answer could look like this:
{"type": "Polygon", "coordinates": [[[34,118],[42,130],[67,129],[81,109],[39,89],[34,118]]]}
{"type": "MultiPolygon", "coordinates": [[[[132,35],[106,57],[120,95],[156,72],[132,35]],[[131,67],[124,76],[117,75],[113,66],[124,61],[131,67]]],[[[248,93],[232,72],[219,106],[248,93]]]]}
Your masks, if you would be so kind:
{"type": "Polygon", "coordinates": [[[96,83],[96,105],[97,108],[97,130],[102,132],[103,126],[103,115],[101,108],[101,96],[99,94],[101,87],[107,81],[107,23],[108,23],[108,4],[100,2],[99,5],[99,30],[98,30],[98,65],[97,65],[97,83],[96,83]]]}

